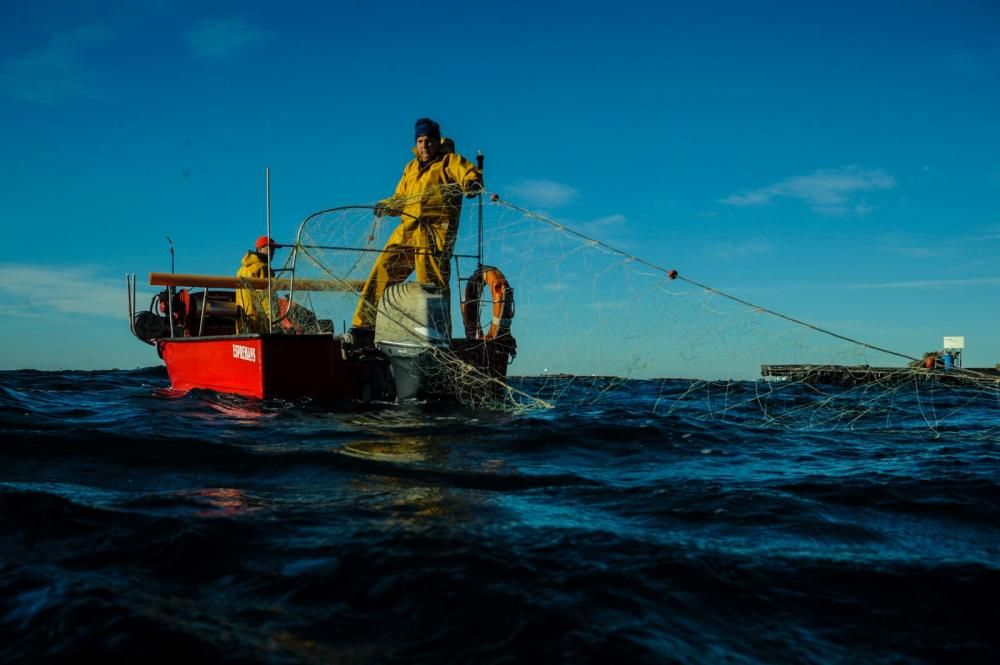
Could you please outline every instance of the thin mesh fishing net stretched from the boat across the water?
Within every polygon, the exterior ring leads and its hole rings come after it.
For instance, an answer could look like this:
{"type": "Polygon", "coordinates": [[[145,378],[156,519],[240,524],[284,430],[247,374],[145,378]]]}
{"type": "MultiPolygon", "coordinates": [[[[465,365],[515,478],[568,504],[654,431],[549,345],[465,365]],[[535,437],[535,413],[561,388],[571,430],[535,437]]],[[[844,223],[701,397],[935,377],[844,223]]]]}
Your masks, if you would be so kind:
{"type": "MultiPolygon", "coordinates": [[[[958,427],[1000,407],[995,373],[945,369],[940,359],[823,329],[489,194],[481,204],[466,201],[462,213],[451,271],[456,338],[466,337],[460,301],[480,259],[480,218],[482,261],[499,268],[514,292],[516,355],[506,377],[468,362],[468,354],[443,351],[427,369],[434,385],[471,407],[627,404],[650,415],[683,411],[822,431],[958,427]]],[[[308,312],[307,321],[296,320],[300,328],[326,321],[345,331],[398,223],[376,217],[371,206],[307,218],[279,276],[329,288],[293,288],[288,317],[299,306],[308,312]]],[[[479,309],[475,323],[486,329],[493,304],[479,309]]],[[[984,436],[1000,431],[976,425],[984,436]]]]}

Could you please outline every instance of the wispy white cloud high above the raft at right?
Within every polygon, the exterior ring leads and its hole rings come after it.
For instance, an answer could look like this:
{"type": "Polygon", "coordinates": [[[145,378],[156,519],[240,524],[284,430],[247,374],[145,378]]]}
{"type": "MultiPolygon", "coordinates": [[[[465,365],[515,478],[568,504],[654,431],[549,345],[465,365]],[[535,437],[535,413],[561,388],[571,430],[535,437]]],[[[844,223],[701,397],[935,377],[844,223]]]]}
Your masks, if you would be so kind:
{"type": "Polygon", "coordinates": [[[860,192],[888,190],[896,180],[881,169],[865,170],[857,166],[815,171],[809,175],[785,178],[773,185],[722,199],[731,206],[764,205],[776,198],[804,202],[816,212],[828,215],[866,215],[871,208],[853,203],[852,197],[860,192]]]}

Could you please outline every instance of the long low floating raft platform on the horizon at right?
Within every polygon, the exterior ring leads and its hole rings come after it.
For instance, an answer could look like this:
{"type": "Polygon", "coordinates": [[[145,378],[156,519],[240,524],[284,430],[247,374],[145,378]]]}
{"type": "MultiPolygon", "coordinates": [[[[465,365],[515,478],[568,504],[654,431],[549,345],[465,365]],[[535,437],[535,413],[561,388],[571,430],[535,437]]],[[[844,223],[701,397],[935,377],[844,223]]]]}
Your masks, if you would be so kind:
{"type": "Polygon", "coordinates": [[[761,365],[760,375],[777,381],[857,386],[867,383],[940,381],[954,384],[998,384],[1000,369],[992,367],[872,367],[871,365],[761,365]]]}

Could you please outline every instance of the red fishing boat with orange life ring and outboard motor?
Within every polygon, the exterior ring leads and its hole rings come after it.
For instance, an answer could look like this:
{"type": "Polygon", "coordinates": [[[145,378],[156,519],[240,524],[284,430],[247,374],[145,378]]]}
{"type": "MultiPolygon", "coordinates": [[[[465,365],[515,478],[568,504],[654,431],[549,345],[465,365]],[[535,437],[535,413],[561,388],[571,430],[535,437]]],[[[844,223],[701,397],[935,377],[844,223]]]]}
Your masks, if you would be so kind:
{"type": "MultiPolygon", "coordinates": [[[[319,250],[305,232],[319,216],[337,211],[368,211],[346,206],[310,215],[302,222],[285,268],[277,276],[245,279],[227,276],[150,273],[149,284],[163,287],[146,311],[136,309],[135,277],[128,278],[132,333],[154,346],[166,364],[171,387],[212,390],[267,398],[392,401],[410,398],[485,399],[504,388],[515,355],[510,333],[513,290],[496,268],[477,259],[461,303],[465,337],[453,337],[450,303],[436,286],[404,282],[386,289],[378,305],[374,339],[336,333],[333,318],[323,318],[320,295],[356,302],[362,282],[352,279],[367,268],[354,261],[343,274],[324,267],[326,278],[301,277],[319,250]],[[263,330],[247,330],[237,291],[252,290],[264,303],[263,330]],[[485,305],[485,307],[484,307],[485,305]],[[480,313],[487,325],[480,324],[480,313]],[[472,380],[470,381],[470,377],[472,380]]],[[[338,246],[341,253],[370,253],[364,246],[338,246]]],[[[171,250],[172,251],[172,250],[171,250]]],[[[456,255],[458,258],[472,258],[456,255]]],[[[315,273],[316,271],[314,271],[315,273]]],[[[306,273],[309,274],[309,273],[306,273]]]]}

